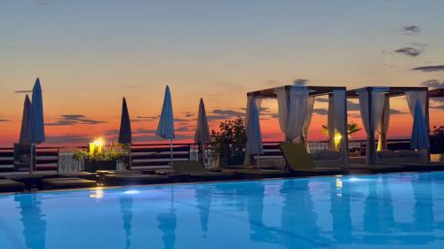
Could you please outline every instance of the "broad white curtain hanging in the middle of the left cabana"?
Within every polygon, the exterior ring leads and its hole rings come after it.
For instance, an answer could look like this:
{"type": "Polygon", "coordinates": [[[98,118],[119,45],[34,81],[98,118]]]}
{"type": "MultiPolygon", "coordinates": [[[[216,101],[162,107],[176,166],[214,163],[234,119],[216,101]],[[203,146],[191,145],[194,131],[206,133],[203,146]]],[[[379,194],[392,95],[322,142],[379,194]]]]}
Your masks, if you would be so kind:
{"type": "Polygon", "coordinates": [[[279,126],[285,141],[293,141],[302,135],[308,99],[305,87],[290,87],[276,91],[279,109],[279,126]]]}

